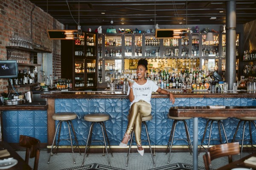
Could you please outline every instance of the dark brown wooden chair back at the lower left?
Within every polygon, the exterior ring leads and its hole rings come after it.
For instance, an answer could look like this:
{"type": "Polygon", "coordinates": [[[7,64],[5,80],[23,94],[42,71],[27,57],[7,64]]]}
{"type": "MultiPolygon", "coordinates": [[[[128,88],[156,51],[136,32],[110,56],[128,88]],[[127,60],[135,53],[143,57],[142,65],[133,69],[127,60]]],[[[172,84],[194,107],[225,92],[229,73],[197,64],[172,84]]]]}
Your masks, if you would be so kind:
{"type": "Polygon", "coordinates": [[[26,164],[29,164],[29,158],[35,157],[34,170],[38,170],[39,154],[40,154],[40,141],[30,136],[20,135],[20,146],[26,147],[26,164]]]}

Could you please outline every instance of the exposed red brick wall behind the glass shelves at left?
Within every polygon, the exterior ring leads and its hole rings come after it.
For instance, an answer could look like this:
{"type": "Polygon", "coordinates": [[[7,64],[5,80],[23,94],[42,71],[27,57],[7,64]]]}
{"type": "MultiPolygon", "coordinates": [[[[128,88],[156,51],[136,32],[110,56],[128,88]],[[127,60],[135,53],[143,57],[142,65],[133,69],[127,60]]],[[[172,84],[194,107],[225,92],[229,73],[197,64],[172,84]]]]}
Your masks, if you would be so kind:
{"type": "MultiPolygon", "coordinates": [[[[32,32],[34,48],[47,51],[54,50],[53,56],[56,57],[56,60],[53,59],[53,61],[56,61],[56,74],[60,77],[61,42],[60,40],[49,40],[47,36],[47,29],[64,29],[64,25],[53,19],[41,8],[37,6],[35,6],[34,9],[33,8],[34,4],[29,0],[0,1],[0,60],[7,59],[6,46],[9,46],[9,38],[12,37],[12,34],[31,37],[32,32]]],[[[23,55],[29,59],[29,53],[24,52],[23,55]]],[[[7,84],[7,79],[0,79],[0,92],[7,92],[7,84]]],[[[23,89],[23,91],[27,90],[27,88],[23,89]]],[[[22,89],[19,89],[19,91],[22,91],[22,89]]]]}

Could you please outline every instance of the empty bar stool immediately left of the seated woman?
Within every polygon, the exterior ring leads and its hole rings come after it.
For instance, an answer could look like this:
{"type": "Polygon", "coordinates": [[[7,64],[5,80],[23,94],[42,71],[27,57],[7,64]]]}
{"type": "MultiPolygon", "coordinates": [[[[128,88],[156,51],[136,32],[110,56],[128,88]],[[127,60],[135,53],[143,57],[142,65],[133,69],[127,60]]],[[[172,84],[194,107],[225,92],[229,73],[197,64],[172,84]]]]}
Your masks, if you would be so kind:
{"type": "MultiPolygon", "coordinates": [[[[85,159],[86,152],[90,149],[92,133],[93,133],[93,125],[95,123],[99,123],[99,125],[102,128],[102,135],[103,135],[103,139],[104,139],[104,144],[105,144],[107,157],[108,157],[108,149],[110,150],[111,156],[113,157],[112,150],[111,150],[111,147],[110,147],[110,143],[109,143],[109,140],[108,140],[108,134],[107,134],[106,127],[105,127],[105,124],[104,124],[104,121],[109,120],[109,115],[102,114],[102,113],[87,114],[87,115],[84,116],[84,120],[87,121],[87,122],[92,122],[92,124],[90,125],[90,130],[89,130],[89,135],[88,135],[88,138],[87,138],[87,143],[86,143],[86,147],[85,147],[85,151],[84,151],[84,158],[83,158],[82,166],[84,166],[84,159],[85,159]],[[105,135],[104,135],[104,132],[105,132],[105,135]],[[107,138],[109,148],[107,148],[105,136],[107,138]],[[89,146],[88,146],[88,142],[89,142],[89,146]],[[88,148],[87,148],[87,146],[88,146],[88,148]]],[[[92,142],[103,142],[103,141],[92,141],[92,142]]],[[[87,157],[88,157],[88,153],[87,153],[87,157]]],[[[110,166],[109,158],[108,158],[108,165],[110,166]]]]}

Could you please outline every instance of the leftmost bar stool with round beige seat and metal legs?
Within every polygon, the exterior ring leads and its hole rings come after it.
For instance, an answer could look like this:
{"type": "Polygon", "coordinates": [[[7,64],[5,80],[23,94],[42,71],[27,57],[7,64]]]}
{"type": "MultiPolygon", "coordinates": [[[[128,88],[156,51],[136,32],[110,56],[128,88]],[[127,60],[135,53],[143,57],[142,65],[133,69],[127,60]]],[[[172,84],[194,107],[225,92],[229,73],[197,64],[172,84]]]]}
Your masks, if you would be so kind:
{"type": "MultiPolygon", "coordinates": [[[[74,161],[74,164],[76,164],[75,156],[74,156],[74,150],[73,150],[73,142],[72,142],[73,140],[76,141],[76,144],[77,144],[76,147],[78,147],[79,153],[80,153],[80,149],[79,149],[78,141],[77,141],[77,139],[76,139],[76,133],[75,133],[75,130],[74,130],[74,127],[73,127],[73,123],[72,123],[72,121],[71,121],[71,120],[73,120],[73,119],[76,119],[76,117],[77,117],[77,115],[76,115],[76,113],[74,113],[74,112],[62,112],[62,113],[55,113],[55,114],[52,115],[52,119],[53,119],[53,120],[58,120],[59,122],[58,122],[57,127],[56,127],[56,130],[55,130],[55,135],[54,135],[54,139],[53,139],[53,142],[52,142],[52,147],[51,147],[51,152],[50,152],[50,156],[49,156],[49,159],[48,159],[48,164],[49,164],[49,161],[50,161],[51,156],[52,156],[52,150],[57,147],[56,153],[58,153],[59,142],[62,141],[62,140],[70,140],[71,149],[72,149],[72,154],[73,154],[73,161],[74,161]],[[62,122],[66,122],[66,123],[67,123],[67,127],[68,127],[68,132],[69,132],[70,139],[61,139],[61,140],[60,140],[62,122]],[[59,125],[60,125],[60,128],[59,128],[59,130],[58,130],[59,125]],[[73,133],[74,133],[75,139],[72,139],[72,138],[71,138],[70,125],[71,125],[72,131],[73,131],[73,133]],[[57,132],[58,132],[58,143],[57,143],[57,145],[53,148],[53,144],[54,144],[54,142],[55,142],[57,132]]],[[[75,149],[76,149],[76,147],[75,147],[75,149]]],[[[80,153],[80,155],[81,155],[81,153],[80,153]]]]}

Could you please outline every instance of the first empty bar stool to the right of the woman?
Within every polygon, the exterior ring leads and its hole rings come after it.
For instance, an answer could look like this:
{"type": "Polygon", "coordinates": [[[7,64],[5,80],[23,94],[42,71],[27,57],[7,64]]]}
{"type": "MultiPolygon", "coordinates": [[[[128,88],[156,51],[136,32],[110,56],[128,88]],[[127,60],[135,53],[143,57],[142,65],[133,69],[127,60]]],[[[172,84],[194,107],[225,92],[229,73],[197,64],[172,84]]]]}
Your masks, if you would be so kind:
{"type": "Polygon", "coordinates": [[[170,138],[169,138],[169,141],[168,141],[168,144],[167,144],[167,149],[166,149],[166,155],[167,155],[167,152],[168,152],[168,148],[170,149],[169,158],[168,158],[168,162],[167,162],[169,164],[177,122],[181,121],[181,122],[184,123],[187,139],[175,139],[175,140],[185,140],[186,142],[188,142],[189,150],[193,151],[193,147],[192,147],[192,142],[191,142],[190,135],[189,135],[188,125],[186,124],[186,121],[185,121],[187,119],[191,119],[192,117],[172,117],[172,116],[169,116],[169,114],[168,114],[168,117],[169,117],[169,119],[174,119],[174,122],[172,124],[172,130],[171,130],[170,138]],[[172,142],[171,142],[171,139],[172,139],[172,142]],[[169,145],[170,142],[171,142],[171,147],[169,145]]]}

